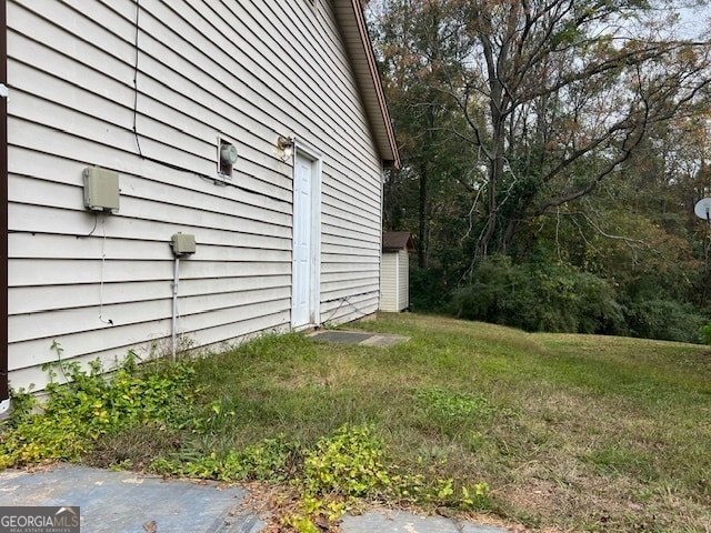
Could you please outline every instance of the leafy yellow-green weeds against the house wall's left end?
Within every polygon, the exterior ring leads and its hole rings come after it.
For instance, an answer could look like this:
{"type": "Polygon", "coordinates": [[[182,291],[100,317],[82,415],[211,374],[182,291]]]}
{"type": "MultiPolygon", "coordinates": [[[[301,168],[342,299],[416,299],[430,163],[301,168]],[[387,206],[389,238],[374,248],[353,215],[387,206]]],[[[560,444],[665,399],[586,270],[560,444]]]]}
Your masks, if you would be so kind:
{"type": "MultiPolygon", "coordinates": [[[[58,343],[52,349],[61,353],[58,343]]],[[[139,365],[132,351],[108,376],[98,360],[89,371],[61,361],[44,370],[50,375],[46,402],[39,404],[26,391],[12,393],[14,409],[0,434],[0,469],[79,461],[97,439],[131,425],[164,430],[179,423],[177,413],[186,411],[193,394],[194,371],[189,363],[139,365]],[[58,371],[67,383],[54,381],[58,371]]]]}

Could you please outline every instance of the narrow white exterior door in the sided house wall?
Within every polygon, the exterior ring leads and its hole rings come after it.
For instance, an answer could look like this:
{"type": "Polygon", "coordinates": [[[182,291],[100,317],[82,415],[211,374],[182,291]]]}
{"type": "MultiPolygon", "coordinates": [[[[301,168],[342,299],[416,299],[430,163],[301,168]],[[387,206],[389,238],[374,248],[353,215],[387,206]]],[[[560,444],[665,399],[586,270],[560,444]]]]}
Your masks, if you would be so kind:
{"type": "Polygon", "coordinates": [[[293,257],[291,325],[316,324],[318,294],[319,213],[318,161],[297,152],[293,175],[293,257]]]}

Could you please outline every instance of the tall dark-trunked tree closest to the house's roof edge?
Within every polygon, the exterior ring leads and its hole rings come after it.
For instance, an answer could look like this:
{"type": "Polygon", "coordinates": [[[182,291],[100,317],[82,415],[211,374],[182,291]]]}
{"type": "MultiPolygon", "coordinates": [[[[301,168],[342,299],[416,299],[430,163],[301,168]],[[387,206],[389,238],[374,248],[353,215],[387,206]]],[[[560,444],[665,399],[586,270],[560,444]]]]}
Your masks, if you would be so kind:
{"type": "Polygon", "coordinates": [[[415,230],[418,264],[427,268],[431,243],[443,237],[437,213],[467,188],[462,175],[469,158],[455,133],[465,122],[457,102],[440,89],[442,73],[458,69],[452,63],[457,43],[438,31],[449,17],[439,4],[403,1],[391,8],[398,16],[380,11],[377,34],[403,164],[387,178],[384,219],[387,229],[409,223],[415,230]]]}

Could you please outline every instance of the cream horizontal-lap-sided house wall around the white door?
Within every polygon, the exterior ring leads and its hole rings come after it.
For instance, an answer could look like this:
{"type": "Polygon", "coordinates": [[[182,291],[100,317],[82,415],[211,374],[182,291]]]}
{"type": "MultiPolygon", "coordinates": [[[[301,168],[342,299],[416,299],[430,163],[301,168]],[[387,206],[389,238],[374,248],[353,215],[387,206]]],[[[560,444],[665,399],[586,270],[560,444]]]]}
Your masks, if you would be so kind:
{"type": "Polygon", "coordinates": [[[381,161],[331,2],[18,0],[8,18],[10,385],[43,363],[164,353],[290,324],[292,162],[321,155],[320,322],[379,306],[381,161]],[[137,31],[138,28],[138,31],[137,31]],[[239,152],[218,175],[219,139],[239,152]],[[82,171],[120,209],[83,205],[82,171]]]}

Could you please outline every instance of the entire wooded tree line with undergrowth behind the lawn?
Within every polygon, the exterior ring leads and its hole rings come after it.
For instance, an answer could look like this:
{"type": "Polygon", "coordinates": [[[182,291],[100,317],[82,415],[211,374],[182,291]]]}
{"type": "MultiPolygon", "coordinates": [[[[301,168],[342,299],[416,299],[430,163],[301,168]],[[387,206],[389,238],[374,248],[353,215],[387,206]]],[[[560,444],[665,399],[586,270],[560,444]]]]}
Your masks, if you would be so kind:
{"type": "Polygon", "coordinates": [[[703,7],[369,2],[402,158],[384,225],[415,238],[415,310],[698,339],[711,47],[689,22],[703,7]]]}

